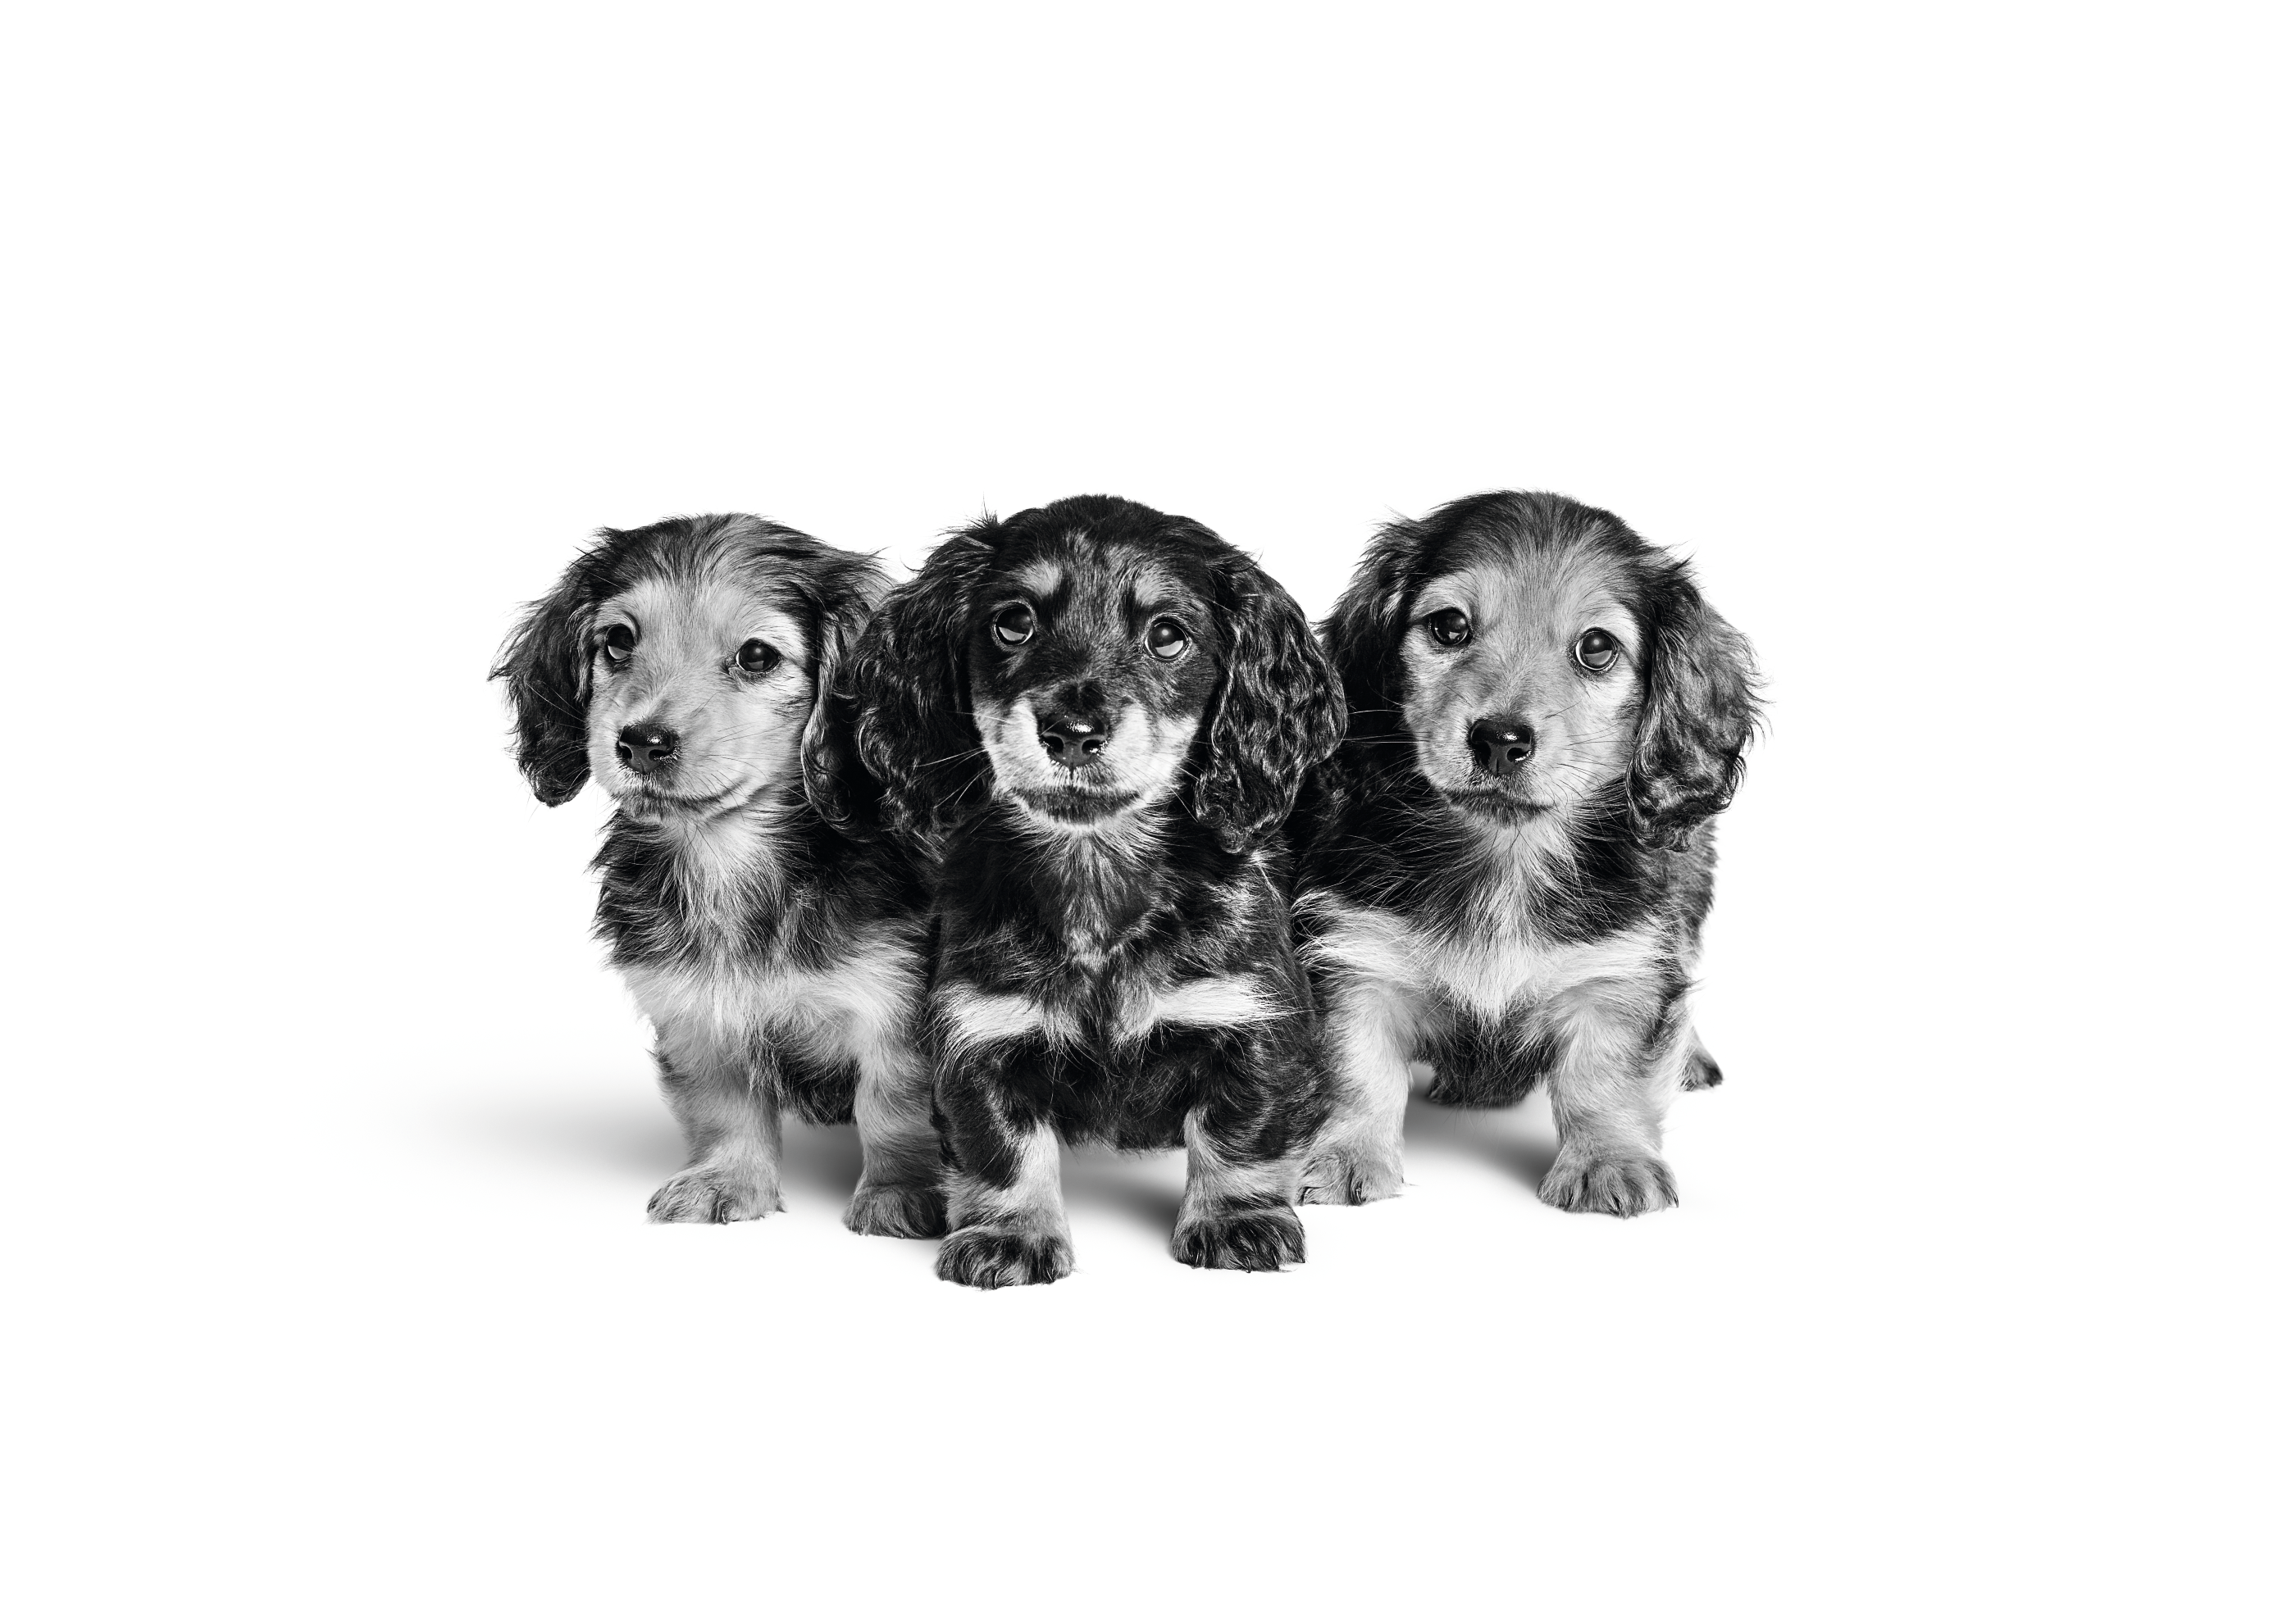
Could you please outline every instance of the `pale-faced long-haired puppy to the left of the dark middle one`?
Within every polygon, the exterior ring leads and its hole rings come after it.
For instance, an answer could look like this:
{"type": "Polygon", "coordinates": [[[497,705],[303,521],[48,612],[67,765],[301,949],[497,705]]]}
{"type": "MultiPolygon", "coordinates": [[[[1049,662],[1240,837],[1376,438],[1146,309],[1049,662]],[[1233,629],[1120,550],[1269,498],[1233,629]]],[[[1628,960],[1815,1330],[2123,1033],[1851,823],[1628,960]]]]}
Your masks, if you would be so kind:
{"type": "Polygon", "coordinates": [[[856,1120],[845,1221],[937,1235],[939,1143],[916,1049],[925,895],[866,806],[831,693],[884,595],[868,558],[746,514],[602,530],[494,673],[544,806],[615,813],[597,932],[654,1024],[691,1164],[654,1221],[781,1210],[781,1113],[856,1120]]]}

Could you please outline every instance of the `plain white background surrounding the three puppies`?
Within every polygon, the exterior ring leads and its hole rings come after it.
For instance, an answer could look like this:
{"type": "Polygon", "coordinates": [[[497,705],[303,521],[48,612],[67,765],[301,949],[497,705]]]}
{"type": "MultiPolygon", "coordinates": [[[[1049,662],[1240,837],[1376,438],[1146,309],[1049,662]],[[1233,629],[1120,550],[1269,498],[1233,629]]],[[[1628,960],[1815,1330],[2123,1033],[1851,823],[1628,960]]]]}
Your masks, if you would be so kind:
{"type": "Polygon", "coordinates": [[[16,11],[9,1609],[2285,1616],[2273,11],[16,11]],[[1770,677],[1681,1210],[1534,1104],[1286,1276],[1178,1157],[1047,1290],[850,1132],[641,1221],[484,682],[588,530],[1116,491],[1320,613],[1488,487],[1770,677]]]}

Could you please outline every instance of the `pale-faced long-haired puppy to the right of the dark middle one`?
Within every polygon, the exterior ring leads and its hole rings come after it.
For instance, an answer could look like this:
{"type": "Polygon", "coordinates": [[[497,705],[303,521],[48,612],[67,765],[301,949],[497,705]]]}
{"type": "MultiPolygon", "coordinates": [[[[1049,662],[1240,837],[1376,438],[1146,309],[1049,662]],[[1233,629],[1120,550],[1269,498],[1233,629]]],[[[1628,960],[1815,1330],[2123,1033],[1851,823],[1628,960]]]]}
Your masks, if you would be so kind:
{"type": "Polygon", "coordinates": [[[1295,833],[1336,1097],[1302,1198],[1396,1194],[1424,1063],[1440,1104],[1545,1084],[1552,1205],[1674,1205],[1660,1118],[1722,1079],[1688,992],[1745,638],[1612,514],[1502,491],[1382,530],[1325,643],[1350,728],[1295,833]]]}

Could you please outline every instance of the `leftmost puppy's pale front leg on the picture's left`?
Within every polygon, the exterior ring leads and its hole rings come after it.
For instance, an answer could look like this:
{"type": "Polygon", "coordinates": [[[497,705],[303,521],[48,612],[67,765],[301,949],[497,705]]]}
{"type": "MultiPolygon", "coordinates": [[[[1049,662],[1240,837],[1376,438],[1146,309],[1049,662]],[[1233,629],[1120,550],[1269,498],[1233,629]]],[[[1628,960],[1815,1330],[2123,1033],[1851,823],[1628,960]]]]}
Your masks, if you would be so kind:
{"type": "Polygon", "coordinates": [[[781,1210],[781,1088],[769,1056],[691,1022],[659,1026],[661,1095],[687,1129],[687,1171],[654,1191],[657,1224],[739,1224],[781,1210]]]}

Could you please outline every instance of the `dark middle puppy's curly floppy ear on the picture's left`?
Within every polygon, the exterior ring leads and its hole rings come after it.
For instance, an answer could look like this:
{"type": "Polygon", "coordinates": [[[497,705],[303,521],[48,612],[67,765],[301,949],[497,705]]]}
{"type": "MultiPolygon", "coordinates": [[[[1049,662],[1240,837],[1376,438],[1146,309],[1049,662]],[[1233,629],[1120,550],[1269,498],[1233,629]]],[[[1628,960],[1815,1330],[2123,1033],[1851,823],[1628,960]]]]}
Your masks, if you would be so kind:
{"type": "Polygon", "coordinates": [[[854,748],[884,790],[879,817],[925,852],[985,776],[967,613],[996,539],[996,519],[953,530],[914,578],[886,592],[852,659],[854,748]]]}

